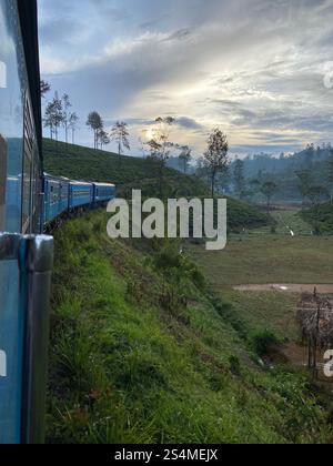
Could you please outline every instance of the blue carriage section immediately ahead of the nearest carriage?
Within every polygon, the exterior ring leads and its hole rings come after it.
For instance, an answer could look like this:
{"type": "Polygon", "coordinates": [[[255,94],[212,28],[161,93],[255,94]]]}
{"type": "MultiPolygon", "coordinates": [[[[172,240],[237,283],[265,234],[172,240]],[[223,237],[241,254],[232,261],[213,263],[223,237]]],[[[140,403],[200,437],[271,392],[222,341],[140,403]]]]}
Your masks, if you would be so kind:
{"type": "Polygon", "coordinates": [[[52,176],[44,173],[43,183],[43,224],[44,227],[53,224],[69,210],[70,180],[62,176],[52,176]]]}

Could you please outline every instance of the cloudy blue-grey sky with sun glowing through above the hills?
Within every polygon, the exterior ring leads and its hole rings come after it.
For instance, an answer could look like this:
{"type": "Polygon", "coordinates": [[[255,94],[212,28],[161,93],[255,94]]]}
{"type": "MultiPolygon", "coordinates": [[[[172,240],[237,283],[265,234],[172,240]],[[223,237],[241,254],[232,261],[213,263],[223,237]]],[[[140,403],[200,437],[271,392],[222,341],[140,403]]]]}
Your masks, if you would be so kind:
{"type": "Polygon", "coordinates": [[[198,155],[216,125],[239,154],[333,142],[333,0],[38,1],[42,74],[82,144],[94,109],[130,124],[133,154],[160,115],[198,155]]]}

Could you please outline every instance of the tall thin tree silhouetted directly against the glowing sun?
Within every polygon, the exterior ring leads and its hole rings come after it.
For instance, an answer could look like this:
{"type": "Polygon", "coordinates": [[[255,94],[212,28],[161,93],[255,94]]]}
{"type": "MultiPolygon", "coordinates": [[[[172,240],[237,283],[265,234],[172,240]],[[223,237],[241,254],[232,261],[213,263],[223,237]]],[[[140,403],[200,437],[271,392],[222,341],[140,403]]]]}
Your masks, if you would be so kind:
{"type": "Polygon", "coordinates": [[[174,146],[174,143],[170,141],[171,130],[175,120],[172,116],[158,118],[154,126],[147,133],[150,135],[150,140],[145,142],[145,146],[150,152],[152,160],[159,164],[159,183],[160,183],[160,196],[163,197],[163,182],[164,182],[164,169],[168,159],[170,158],[170,151],[174,146]]]}

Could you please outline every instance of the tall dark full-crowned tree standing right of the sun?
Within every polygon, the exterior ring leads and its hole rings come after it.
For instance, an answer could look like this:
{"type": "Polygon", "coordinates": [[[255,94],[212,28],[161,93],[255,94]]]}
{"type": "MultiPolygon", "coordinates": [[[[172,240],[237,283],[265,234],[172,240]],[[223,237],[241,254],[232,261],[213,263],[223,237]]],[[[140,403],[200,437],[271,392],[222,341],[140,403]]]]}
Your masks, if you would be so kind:
{"type": "Polygon", "coordinates": [[[215,181],[218,173],[223,173],[229,166],[229,143],[226,135],[215,128],[208,139],[208,150],[204,159],[210,172],[212,196],[215,195],[215,181]]]}

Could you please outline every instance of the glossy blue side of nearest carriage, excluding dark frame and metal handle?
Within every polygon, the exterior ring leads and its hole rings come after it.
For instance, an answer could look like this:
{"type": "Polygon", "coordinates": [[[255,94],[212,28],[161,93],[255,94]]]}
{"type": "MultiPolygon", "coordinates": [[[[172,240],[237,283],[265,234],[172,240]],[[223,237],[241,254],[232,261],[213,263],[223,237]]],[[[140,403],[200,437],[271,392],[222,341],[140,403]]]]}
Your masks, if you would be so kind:
{"type": "MultiPolygon", "coordinates": [[[[27,136],[23,121],[29,87],[18,3],[13,0],[0,1],[0,180],[3,183],[0,231],[20,233],[23,224],[23,134],[27,136]]],[[[24,315],[18,263],[2,260],[1,253],[0,444],[13,444],[21,442],[24,315]]]]}

